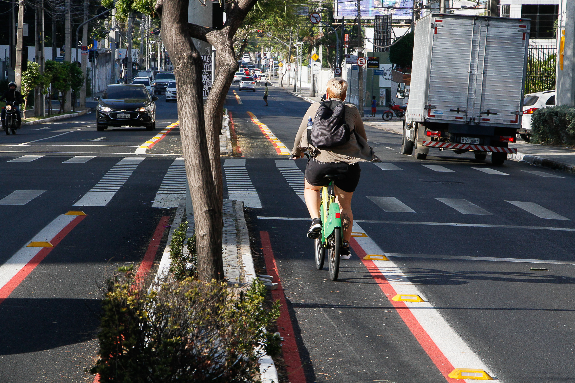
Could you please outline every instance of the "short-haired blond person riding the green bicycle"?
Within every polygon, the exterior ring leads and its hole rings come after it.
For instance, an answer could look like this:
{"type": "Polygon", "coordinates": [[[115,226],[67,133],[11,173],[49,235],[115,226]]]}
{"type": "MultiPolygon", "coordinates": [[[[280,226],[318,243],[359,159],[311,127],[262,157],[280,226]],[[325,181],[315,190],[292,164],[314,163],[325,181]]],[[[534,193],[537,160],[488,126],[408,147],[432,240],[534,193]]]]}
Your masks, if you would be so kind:
{"type": "MultiPolygon", "coordinates": [[[[334,101],[331,105],[339,104],[346,99],[347,81],[342,78],[332,78],[327,82],[327,100],[334,101]]],[[[349,140],[336,147],[317,148],[308,143],[305,134],[309,118],[316,120],[317,110],[322,103],[314,102],[305,112],[301,121],[300,129],[296,135],[296,141],[292,149],[292,159],[301,158],[305,151],[311,153],[311,158],[305,167],[305,204],[308,205],[309,215],[312,217],[312,225],[308,231],[308,238],[316,239],[321,232],[320,219],[320,193],[321,187],[328,185],[329,179],[325,175],[339,174],[340,178],[335,179],[335,194],[338,204],[341,206],[341,219],[343,229],[343,244],[340,247],[340,255],[343,259],[350,258],[350,238],[353,225],[353,214],[351,212],[351,198],[359,182],[359,162],[379,162],[373,149],[367,144],[365,128],[359,115],[359,110],[353,104],[344,104],[345,123],[349,129],[349,140]]],[[[343,122],[343,121],[342,121],[343,122]]]]}

